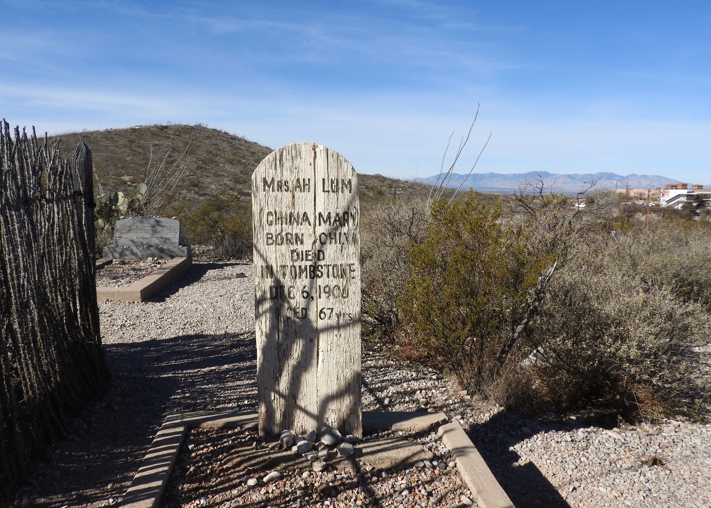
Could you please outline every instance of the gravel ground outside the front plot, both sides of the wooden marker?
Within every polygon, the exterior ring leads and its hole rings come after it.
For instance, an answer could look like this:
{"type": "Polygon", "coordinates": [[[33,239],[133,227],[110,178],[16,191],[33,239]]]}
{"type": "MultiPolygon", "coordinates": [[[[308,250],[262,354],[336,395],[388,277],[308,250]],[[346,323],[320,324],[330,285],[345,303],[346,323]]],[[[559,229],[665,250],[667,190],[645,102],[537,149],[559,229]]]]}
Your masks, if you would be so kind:
{"type": "MultiPolygon", "coordinates": [[[[167,413],[255,409],[251,273],[251,265],[196,263],[148,302],[101,302],[113,373],[107,396],[77,416],[69,438],[4,504],[114,504],[167,413]]],[[[426,366],[364,354],[364,409],[441,410],[460,420],[518,508],[711,508],[709,425],[529,419],[456,388],[426,366]]]]}

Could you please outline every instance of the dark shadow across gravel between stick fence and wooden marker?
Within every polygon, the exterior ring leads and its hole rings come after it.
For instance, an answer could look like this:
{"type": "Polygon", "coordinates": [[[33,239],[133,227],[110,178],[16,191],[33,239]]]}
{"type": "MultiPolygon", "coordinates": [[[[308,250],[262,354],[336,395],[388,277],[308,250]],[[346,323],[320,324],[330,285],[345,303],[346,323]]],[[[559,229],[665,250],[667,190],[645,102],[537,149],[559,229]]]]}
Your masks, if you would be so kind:
{"type": "MultiPolygon", "coordinates": [[[[105,344],[112,381],[104,401],[77,416],[68,438],[19,488],[32,506],[119,499],[165,416],[176,411],[257,408],[252,334],[185,335],[105,344]],[[105,488],[86,489],[87,485],[105,488]]],[[[2,503],[0,503],[2,504],[2,503]]]]}

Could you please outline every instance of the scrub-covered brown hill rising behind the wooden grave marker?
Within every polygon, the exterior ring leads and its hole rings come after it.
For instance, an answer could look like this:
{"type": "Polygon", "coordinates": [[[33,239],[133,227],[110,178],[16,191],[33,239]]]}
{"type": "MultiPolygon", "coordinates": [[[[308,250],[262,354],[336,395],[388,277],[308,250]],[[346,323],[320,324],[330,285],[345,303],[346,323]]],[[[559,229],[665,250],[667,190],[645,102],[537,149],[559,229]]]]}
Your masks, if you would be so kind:
{"type": "MultiPolygon", "coordinates": [[[[80,139],[89,146],[95,168],[96,192],[123,191],[133,196],[144,180],[151,157],[170,152],[171,164],[188,146],[191,162],[176,186],[176,203],[188,207],[210,196],[238,194],[251,196],[251,178],[257,164],[272,152],[269,147],[203,125],[139,125],[125,129],[68,132],[58,134],[64,153],[69,154],[80,139]]],[[[348,154],[343,154],[348,158],[348,154]]],[[[358,171],[358,168],[356,168],[358,171]]],[[[363,204],[397,197],[427,196],[430,186],[418,182],[387,178],[379,174],[359,174],[363,204]]]]}

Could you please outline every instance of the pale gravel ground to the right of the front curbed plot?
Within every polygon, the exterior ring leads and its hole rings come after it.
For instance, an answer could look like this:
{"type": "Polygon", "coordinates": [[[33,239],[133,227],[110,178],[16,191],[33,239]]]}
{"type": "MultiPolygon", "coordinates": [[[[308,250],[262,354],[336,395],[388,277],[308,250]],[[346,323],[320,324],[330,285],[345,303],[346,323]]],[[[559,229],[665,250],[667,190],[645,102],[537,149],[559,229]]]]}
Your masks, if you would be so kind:
{"type": "Polygon", "coordinates": [[[457,391],[432,369],[373,353],[363,378],[366,410],[419,408],[459,420],[519,508],[711,508],[711,425],[524,418],[457,391]]]}

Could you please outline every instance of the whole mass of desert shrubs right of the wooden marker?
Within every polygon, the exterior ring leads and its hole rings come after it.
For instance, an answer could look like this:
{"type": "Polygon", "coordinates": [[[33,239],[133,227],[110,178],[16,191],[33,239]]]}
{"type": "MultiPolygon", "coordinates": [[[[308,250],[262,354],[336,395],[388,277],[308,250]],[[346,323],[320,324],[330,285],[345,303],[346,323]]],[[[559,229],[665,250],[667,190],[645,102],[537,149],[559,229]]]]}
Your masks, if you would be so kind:
{"type": "Polygon", "coordinates": [[[524,184],[363,219],[365,340],[526,411],[705,418],[711,223],[524,184]]]}

